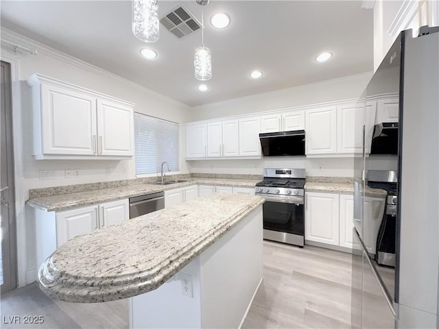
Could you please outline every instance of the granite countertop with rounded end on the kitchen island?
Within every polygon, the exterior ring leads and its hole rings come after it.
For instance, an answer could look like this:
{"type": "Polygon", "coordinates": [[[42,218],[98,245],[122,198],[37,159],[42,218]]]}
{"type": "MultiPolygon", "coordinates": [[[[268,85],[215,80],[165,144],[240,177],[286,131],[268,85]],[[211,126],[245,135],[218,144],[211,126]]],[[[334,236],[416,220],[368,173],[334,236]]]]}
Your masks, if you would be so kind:
{"type": "Polygon", "coordinates": [[[107,302],[152,291],[263,201],[215,193],[76,236],[41,265],[40,287],[67,302],[107,302]]]}

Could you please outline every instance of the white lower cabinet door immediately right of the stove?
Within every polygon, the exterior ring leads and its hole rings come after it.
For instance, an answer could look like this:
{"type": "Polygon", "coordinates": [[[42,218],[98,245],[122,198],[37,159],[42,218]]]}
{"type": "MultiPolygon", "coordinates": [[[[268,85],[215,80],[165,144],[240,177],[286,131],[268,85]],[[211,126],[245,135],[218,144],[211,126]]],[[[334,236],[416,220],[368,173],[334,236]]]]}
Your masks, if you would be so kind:
{"type": "Polygon", "coordinates": [[[338,194],[307,192],[305,195],[305,239],[338,245],[338,194]]]}

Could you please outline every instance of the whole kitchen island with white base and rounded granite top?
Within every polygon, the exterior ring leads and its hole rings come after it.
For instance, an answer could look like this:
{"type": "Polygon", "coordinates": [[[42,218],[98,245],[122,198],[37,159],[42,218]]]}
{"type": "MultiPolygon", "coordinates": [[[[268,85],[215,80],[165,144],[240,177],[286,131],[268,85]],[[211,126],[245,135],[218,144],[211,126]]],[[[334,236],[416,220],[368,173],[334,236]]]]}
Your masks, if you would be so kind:
{"type": "Polygon", "coordinates": [[[213,194],[76,236],[40,266],[40,287],[130,298],[131,328],[237,328],[262,280],[262,204],[213,194]]]}

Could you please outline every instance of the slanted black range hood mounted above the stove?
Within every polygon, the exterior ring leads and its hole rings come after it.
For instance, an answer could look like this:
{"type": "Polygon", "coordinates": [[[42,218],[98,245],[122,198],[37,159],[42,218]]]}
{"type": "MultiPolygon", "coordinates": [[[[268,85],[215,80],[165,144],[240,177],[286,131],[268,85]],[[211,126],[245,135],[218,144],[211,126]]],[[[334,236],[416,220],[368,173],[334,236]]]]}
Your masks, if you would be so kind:
{"type": "Polygon", "coordinates": [[[305,130],[259,134],[263,156],[305,156],[305,130]]]}

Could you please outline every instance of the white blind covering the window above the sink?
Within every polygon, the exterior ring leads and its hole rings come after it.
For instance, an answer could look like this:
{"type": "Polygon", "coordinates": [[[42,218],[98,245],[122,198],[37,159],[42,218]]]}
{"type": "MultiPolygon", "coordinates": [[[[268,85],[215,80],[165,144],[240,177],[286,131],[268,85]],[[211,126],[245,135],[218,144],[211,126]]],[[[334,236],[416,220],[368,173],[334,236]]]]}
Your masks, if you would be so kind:
{"type": "Polygon", "coordinates": [[[136,175],[159,173],[163,161],[178,171],[178,123],[134,113],[134,135],[136,175]]]}

